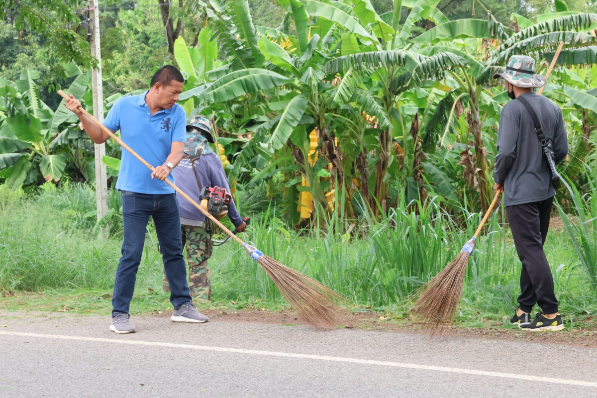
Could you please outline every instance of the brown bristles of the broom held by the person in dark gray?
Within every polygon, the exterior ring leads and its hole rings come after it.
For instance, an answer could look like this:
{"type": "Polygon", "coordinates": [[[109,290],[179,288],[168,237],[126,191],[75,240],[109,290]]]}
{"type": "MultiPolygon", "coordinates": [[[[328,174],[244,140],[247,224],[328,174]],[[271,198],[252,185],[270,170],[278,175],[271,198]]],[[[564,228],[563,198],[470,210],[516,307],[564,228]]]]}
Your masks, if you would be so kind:
{"type": "Polygon", "coordinates": [[[414,304],[413,312],[423,321],[423,327],[432,336],[438,331],[441,333],[454,320],[462,293],[464,273],[475,248],[475,240],[474,237],[469,240],[456,258],[416,293],[420,296],[414,304]]]}

